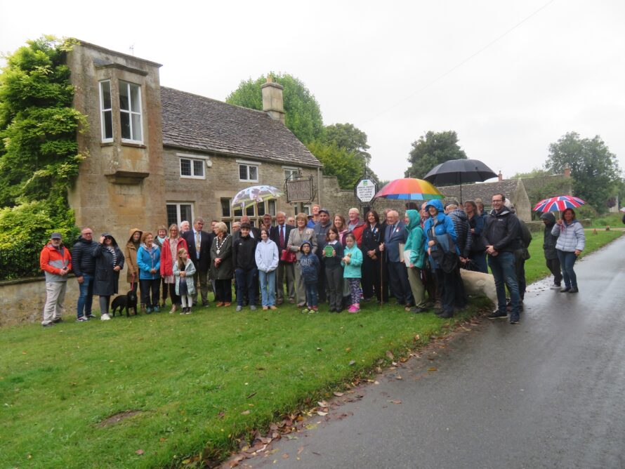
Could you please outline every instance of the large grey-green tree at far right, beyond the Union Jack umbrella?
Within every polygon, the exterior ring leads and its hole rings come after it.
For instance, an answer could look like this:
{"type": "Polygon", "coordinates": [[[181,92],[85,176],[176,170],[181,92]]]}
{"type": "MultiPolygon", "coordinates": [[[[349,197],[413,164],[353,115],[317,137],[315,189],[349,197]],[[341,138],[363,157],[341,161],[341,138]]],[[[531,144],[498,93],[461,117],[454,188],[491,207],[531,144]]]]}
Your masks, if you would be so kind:
{"type": "Polygon", "coordinates": [[[577,132],[565,134],[549,145],[545,163],[554,173],[571,169],[573,193],[600,212],[607,209],[607,201],[619,190],[621,170],[616,155],[608,149],[600,136],[581,138],[577,132]]]}

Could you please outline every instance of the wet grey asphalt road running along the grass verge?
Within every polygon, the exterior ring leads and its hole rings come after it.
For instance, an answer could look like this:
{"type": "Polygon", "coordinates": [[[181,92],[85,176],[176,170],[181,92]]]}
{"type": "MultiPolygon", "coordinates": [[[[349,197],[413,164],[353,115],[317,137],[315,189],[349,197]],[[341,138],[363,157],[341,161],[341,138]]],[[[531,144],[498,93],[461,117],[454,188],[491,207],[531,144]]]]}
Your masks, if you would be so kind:
{"type": "Polygon", "coordinates": [[[471,324],[242,463],[625,468],[625,237],[575,270],[578,294],[529,286],[520,324],[471,324]]]}

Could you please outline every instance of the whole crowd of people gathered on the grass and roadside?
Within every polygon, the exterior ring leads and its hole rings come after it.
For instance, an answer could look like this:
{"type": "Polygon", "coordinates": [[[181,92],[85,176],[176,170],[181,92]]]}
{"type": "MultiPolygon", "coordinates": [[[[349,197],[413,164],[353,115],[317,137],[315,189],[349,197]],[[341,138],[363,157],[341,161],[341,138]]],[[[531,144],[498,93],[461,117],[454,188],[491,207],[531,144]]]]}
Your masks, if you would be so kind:
{"type": "MultiPolygon", "coordinates": [[[[510,322],[516,324],[532,236],[504,194],[494,194],[492,206],[486,214],[479,200],[445,206],[432,200],[408,204],[403,220],[390,209],[383,211],[383,220],[374,210],[361,218],[356,208],[346,219],[313,206],[311,215],[298,213],[294,223],[287,223],[284,212],[276,214],[275,225],[265,215],[261,227],[243,216],[233,223],[232,233],[218,220],[206,231],[204,220],[196,218],[192,225],[159,226],[156,236],[132,228],[123,251],[111,234],[96,241],[85,227],[70,253],[60,234],[53,233],[41,251],[47,293],[42,324],[60,321],[70,271],[80,290],[77,321],[93,317],[93,295],[99,296],[100,319],[110,319],[110,298],[117,293],[124,265],[129,293],[140,293],[141,311],[148,314],[164,308],[168,295],[171,313],[180,308],[180,314],[189,314],[200,304],[208,307],[209,285],[216,306],[228,308],[234,280],[237,311],[247,305],[256,310],[260,297],[263,310],[288,302],[310,314],[327,302],[330,312],[357,313],[363,301],[388,303],[394,296],[411,312],[426,311],[440,300],[436,314],[445,318],[467,303],[460,269],[487,273],[488,266],[498,298],[497,310],[489,317],[507,317],[510,308],[510,322]]],[[[554,285],[560,287],[564,279],[561,291],[575,293],[573,264],[584,249],[584,230],[570,209],[563,220],[556,221],[551,213],[543,218],[545,256],[554,285]]]]}

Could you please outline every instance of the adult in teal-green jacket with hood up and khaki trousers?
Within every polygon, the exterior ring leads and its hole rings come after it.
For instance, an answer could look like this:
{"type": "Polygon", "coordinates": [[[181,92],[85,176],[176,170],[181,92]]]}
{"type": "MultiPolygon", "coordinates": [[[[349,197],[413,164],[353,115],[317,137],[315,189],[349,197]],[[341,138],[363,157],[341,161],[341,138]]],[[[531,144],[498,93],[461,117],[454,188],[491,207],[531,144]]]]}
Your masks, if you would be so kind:
{"type": "Polygon", "coordinates": [[[426,257],[425,237],[421,228],[421,215],[419,211],[406,211],[406,230],[408,239],[404,246],[404,263],[408,270],[408,282],[414,298],[414,307],[409,308],[410,312],[426,311],[426,291],[421,282],[421,270],[426,257]]]}

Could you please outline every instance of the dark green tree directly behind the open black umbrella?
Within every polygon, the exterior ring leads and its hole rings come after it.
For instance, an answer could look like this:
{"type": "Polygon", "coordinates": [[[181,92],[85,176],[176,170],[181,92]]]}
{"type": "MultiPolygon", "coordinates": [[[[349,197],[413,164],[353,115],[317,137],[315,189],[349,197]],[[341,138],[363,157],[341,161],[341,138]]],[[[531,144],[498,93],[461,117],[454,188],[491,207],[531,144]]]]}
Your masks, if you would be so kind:
{"type": "Polygon", "coordinates": [[[458,145],[454,131],[428,131],[412,143],[408,157],[409,168],[404,173],[407,178],[423,179],[434,166],[448,159],[466,159],[466,153],[458,145]]]}

